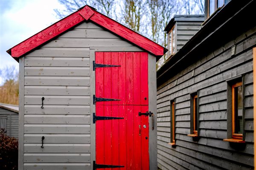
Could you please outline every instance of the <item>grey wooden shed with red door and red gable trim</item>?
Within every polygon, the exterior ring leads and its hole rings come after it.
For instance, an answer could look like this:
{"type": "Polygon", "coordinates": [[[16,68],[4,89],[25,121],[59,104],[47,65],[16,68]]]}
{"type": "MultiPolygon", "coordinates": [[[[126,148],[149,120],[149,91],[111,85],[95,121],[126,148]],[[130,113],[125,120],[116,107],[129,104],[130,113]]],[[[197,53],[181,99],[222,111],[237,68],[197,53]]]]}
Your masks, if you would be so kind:
{"type": "Polygon", "coordinates": [[[20,64],[19,170],[156,170],[166,51],[90,6],[7,51],[20,64]]]}

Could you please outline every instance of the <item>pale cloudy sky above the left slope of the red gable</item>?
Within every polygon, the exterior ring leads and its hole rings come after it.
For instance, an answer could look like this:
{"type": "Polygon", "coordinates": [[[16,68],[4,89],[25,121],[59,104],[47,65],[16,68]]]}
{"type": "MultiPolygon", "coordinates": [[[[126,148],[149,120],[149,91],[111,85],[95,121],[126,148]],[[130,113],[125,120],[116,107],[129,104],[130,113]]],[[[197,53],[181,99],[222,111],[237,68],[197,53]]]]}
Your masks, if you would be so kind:
{"type": "MultiPolygon", "coordinates": [[[[0,0],[0,68],[19,63],[7,50],[57,22],[55,8],[64,8],[58,0],[0,0]]],[[[0,85],[3,78],[0,77],[0,85]]]]}

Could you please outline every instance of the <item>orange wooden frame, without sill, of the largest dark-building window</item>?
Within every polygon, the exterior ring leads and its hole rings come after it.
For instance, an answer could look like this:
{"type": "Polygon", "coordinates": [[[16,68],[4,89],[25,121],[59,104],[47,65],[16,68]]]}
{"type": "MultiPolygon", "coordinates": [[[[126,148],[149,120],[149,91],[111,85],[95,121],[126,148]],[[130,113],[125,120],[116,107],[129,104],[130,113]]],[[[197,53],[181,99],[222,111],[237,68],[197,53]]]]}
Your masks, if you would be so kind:
{"type": "MultiPolygon", "coordinates": [[[[235,109],[236,109],[235,108],[235,96],[236,96],[235,95],[235,88],[239,87],[239,86],[241,86],[243,88],[243,83],[242,82],[236,82],[231,87],[232,88],[232,138],[234,138],[234,139],[243,139],[243,133],[235,133],[235,124],[236,124],[236,120],[235,120],[236,119],[236,116],[235,116],[235,109]]],[[[244,107],[242,109],[244,109],[244,107]]],[[[244,116],[242,117],[242,120],[244,120],[244,116]]],[[[243,131],[244,131],[244,129],[243,129],[243,131]]]]}

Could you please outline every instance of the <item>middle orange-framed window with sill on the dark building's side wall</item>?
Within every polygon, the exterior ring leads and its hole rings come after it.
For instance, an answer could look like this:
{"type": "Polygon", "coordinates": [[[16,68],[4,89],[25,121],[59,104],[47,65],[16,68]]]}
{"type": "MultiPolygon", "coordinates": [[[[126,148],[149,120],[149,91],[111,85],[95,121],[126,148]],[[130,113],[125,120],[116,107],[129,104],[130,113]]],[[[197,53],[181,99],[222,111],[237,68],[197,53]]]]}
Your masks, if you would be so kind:
{"type": "Polygon", "coordinates": [[[198,95],[191,95],[191,134],[188,136],[198,137],[198,95]]]}

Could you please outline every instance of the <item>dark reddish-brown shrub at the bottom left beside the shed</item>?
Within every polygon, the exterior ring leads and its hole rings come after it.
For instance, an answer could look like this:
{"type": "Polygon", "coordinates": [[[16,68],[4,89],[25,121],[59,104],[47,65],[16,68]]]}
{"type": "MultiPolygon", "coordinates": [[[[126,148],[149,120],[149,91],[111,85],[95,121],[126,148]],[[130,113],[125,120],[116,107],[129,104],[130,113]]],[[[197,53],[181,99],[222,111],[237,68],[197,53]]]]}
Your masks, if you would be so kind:
{"type": "Polygon", "coordinates": [[[18,140],[0,129],[0,170],[18,169],[18,140]]]}

